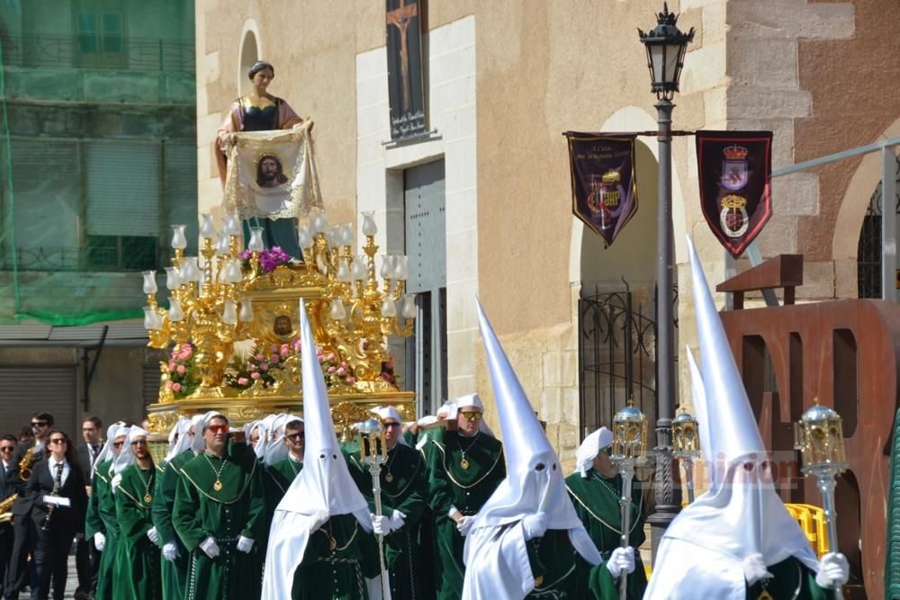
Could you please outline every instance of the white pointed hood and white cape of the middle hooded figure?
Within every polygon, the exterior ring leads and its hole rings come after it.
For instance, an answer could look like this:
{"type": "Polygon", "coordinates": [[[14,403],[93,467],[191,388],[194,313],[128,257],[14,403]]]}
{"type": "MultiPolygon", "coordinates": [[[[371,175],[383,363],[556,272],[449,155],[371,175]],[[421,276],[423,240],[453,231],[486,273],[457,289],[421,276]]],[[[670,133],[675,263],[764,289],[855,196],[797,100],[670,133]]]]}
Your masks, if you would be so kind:
{"type": "MultiPolygon", "coordinates": [[[[507,478],[484,503],[465,538],[463,598],[524,598],[535,588],[527,558],[524,569],[522,563],[522,557],[527,557],[521,524],[524,517],[545,513],[547,529],[565,530],[585,560],[598,565],[602,559],[575,514],[556,452],[480,302],[477,308],[508,469],[507,478]],[[509,577],[510,574],[516,577],[509,577]]],[[[463,402],[457,404],[465,406],[463,402]]]]}

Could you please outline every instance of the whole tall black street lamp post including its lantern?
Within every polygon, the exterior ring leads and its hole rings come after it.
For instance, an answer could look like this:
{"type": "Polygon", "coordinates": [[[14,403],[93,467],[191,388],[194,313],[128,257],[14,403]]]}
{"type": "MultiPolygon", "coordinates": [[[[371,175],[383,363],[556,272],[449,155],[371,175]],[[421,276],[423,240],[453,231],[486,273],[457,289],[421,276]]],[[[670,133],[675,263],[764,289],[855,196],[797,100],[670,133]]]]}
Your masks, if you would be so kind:
{"type": "Polygon", "coordinates": [[[659,124],[659,192],[656,216],[656,472],[653,487],[656,492],[656,512],[648,517],[651,525],[653,558],[662,533],[680,508],[680,488],[672,477],[671,419],[675,412],[675,320],[672,316],[672,218],[671,218],[671,115],[675,104],[672,98],[679,91],[681,67],[688,44],[694,39],[694,28],[679,30],[678,15],[662,4],[656,15],[653,31],[637,30],[647,49],[647,67],[656,94],[656,114],[659,124]]]}

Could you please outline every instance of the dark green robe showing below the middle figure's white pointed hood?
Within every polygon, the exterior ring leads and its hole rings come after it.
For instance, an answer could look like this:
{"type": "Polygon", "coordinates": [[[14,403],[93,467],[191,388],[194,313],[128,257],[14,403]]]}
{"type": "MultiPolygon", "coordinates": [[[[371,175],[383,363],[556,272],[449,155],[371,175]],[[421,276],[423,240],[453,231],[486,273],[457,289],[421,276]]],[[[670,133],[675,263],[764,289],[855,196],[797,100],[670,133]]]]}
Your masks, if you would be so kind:
{"type": "Polygon", "coordinates": [[[526,598],[587,598],[583,574],[587,563],[569,541],[569,533],[548,529],[526,543],[535,589],[526,598]]]}

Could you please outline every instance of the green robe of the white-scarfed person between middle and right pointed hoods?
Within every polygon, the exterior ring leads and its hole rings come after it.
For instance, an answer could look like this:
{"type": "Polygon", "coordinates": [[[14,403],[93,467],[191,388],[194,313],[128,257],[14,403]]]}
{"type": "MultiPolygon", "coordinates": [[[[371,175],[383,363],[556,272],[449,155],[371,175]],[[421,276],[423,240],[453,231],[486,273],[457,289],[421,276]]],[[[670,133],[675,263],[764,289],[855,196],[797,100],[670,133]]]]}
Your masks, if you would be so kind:
{"type": "MultiPolygon", "coordinates": [[[[572,497],[575,513],[581,518],[590,539],[600,551],[604,562],[593,567],[582,561],[582,569],[587,572],[580,577],[587,582],[589,598],[608,600],[618,598],[618,580],[606,568],[606,560],[610,553],[620,545],[622,531],[622,511],[619,508],[619,494],[622,489],[622,477],[613,479],[600,476],[595,470],[589,471],[590,477],[584,479],[581,473],[573,473],[565,480],[565,487],[572,497]]],[[[631,533],[628,542],[633,548],[644,543],[644,488],[640,481],[634,480],[631,493],[631,533]]],[[[635,572],[628,577],[628,599],[640,600],[647,588],[647,576],[640,553],[635,556],[635,572]]]]}

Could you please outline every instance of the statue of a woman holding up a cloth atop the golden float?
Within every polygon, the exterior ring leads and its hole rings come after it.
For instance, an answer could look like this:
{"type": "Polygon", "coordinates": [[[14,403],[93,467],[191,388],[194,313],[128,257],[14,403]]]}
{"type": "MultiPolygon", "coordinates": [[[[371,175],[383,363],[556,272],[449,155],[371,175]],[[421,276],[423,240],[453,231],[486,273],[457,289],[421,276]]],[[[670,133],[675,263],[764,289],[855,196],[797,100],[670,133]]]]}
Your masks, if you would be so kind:
{"type": "MultiPolygon", "coordinates": [[[[219,175],[225,184],[227,162],[227,140],[231,133],[237,131],[271,131],[289,130],[301,125],[305,120],[293,112],[291,106],[283,99],[269,94],[266,89],[275,78],[275,67],[264,61],[257,62],[247,71],[252,89],[241,96],[229,108],[225,120],[216,135],[216,159],[219,164],[219,175]]],[[[295,258],[302,258],[297,244],[297,229],[294,219],[264,219],[254,217],[244,221],[244,239],[250,238],[250,227],[263,228],[263,243],[266,247],[281,247],[284,252],[295,258]]]]}

